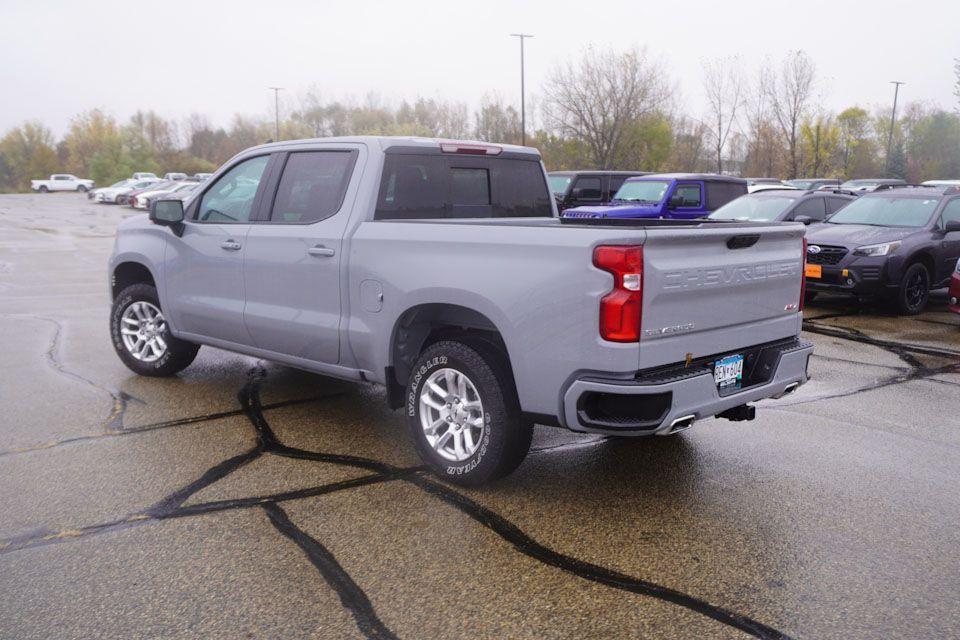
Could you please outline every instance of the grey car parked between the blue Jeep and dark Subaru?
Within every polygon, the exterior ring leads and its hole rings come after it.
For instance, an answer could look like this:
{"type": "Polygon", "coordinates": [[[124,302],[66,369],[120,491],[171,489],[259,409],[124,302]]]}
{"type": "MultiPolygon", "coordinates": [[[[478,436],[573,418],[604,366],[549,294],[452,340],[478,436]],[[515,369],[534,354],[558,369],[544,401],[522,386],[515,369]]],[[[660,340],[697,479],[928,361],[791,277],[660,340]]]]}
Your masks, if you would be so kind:
{"type": "Polygon", "coordinates": [[[711,220],[741,220],[754,222],[789,222],[804,224],[823,222],[836,213],[853,196],[824,191],[800,191],[799,189],[766,189],[740,196],[710,214],[711,220]]]}

